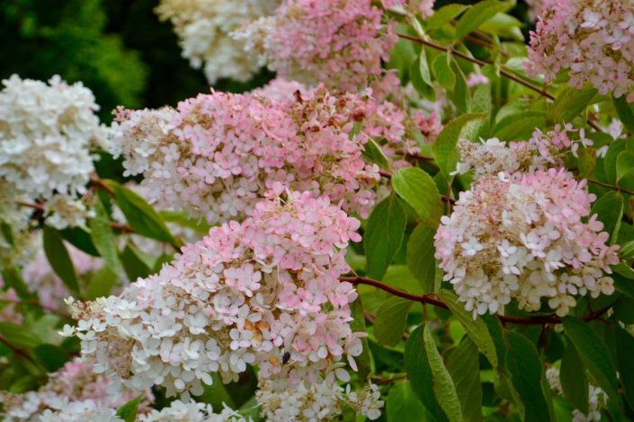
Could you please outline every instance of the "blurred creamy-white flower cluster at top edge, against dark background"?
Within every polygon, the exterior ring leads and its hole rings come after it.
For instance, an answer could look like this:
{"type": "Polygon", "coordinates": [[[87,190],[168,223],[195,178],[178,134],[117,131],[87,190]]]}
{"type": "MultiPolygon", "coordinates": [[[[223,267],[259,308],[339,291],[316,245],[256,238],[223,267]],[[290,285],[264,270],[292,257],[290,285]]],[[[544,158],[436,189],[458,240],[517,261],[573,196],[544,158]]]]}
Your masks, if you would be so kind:
{"type": "Polygon", "coordinates": [[[169,20],[183,48],[183,57],[201,68],[210,84],[220,78],[248,81],[260,68],[258,58],[245,54],[244,42],[229,33],[243,22],[273,13],[280,0],[162,0],[156,7],[169,20]]]}

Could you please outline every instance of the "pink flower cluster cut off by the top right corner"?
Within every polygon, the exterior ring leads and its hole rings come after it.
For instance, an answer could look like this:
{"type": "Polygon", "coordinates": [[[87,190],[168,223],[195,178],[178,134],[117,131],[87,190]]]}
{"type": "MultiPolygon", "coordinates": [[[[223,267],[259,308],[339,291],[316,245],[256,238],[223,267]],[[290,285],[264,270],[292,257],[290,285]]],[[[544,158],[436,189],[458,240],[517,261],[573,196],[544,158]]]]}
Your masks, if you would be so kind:
{"type": "Polygon", "coordinates": [[[546,82],[568,70],[570,86],[589,82],[601,94],[634,102],[634,3],[557,0],[531,32],[525,66],[546,82]]]}

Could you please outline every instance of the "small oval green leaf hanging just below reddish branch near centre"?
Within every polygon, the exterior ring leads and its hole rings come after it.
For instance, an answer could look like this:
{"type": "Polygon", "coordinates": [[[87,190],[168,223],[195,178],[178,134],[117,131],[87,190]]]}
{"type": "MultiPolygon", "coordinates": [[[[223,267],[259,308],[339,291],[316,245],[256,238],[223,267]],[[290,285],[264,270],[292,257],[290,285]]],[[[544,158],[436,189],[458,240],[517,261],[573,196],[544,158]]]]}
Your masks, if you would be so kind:
{"type": "Polygon", "coordinates": [[[414,302],[393,296],[381,303],[374,321],[374,337],[380,345],[395,347],[403,338],[407,314],[414,302]]]}

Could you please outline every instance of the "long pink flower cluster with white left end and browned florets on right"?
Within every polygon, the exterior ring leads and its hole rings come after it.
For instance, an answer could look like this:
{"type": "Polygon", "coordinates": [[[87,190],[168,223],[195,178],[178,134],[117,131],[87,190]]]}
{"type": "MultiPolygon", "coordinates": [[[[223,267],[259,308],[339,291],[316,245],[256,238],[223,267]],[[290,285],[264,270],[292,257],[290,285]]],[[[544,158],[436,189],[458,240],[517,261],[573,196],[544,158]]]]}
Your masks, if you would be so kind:
{"type": "Polygon", "coordinates": [[[440,126],[434,116],[325,88],[281,101],[212,92],[178,110],[120,110],[117,119],[112,153],[123,155],[124,174],[143,173],[150,202],[209,224],[250,215],[274,182],[344,199],[344,210],[367,216],[380,174],[363,145],[385,139],[399,167],[404,152],[419,151],[414,132],[433,136],[440,126]]]}

